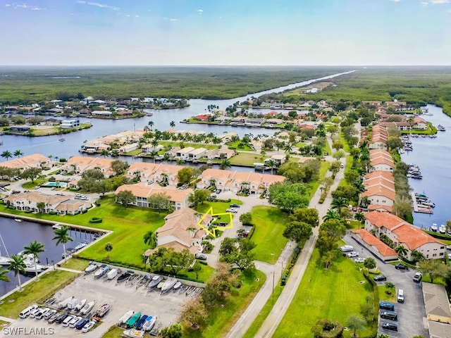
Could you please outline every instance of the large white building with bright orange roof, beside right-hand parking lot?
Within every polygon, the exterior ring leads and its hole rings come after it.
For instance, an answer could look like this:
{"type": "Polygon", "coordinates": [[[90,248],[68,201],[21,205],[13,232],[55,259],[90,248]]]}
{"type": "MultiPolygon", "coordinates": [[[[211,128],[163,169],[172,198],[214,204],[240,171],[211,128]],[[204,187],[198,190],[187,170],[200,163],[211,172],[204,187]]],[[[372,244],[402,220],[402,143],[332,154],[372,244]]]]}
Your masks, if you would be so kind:
{"type": "Polygon", "coordinates": [[[407,249],[405,258],[409,261],[414,259],[412,251],[422,253],[426,259],[445,257],[445,244],[391,213],[365,213],[365,230],[374,233],[379,239],[385,235],[393,242],[393,249],[404,246],[407,249]]]}

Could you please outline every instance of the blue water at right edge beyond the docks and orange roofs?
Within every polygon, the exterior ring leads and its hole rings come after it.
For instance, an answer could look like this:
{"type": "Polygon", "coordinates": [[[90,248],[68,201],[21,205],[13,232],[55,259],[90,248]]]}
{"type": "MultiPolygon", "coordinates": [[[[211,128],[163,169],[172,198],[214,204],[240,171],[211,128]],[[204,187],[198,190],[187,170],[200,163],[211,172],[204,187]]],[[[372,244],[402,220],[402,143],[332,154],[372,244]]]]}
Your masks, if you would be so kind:
{"type": "Polygon", "coordinates": [[[446,132],[438,132],[438,137],[411,137],[414,151],[402,154],[402,161],[419,165],[422,180],[409,179],[414,192],[424,192],[435,203],[433,215],[414,213],[414,224],[430,227],[432,223],[445,224],[451,220],[450,184],[451,184],[451,118],[442,108],[428,105],[433,116],[423,116],[433,125],[443,125],[446,132]]]}

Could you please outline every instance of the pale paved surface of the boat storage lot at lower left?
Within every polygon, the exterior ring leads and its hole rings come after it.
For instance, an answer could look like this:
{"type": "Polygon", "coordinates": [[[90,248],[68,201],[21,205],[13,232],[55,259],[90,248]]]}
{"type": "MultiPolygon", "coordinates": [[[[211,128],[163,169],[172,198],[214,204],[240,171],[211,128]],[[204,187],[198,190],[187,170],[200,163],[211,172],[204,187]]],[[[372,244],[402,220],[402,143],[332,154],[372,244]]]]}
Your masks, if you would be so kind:
{"type": "MultiPolygon", "coordinates": [[[[35,335],[32,334],[29,337],[87,337],[87,338],[99,338],[101,337],[109,327],[116,325],[119,318],[121,318],[125,312],[129,310],[141,311],[142,315],[156,316],[158,323],[161,323],[161,328],[171,325],[178,318],[178,313],[182,308],[183,303],[190,299],[191,296],[186,296],[185,293],[169,291],[166,294],[161,295],[158,291],[148,292],[144,287],[126,286],[125,282],[118,284],[115,280],[106,280],[106,276],[97,280],[94,279],[94,274],[82,275],[73,283],[69,284],[60,292],[57,292],[56,306],[58,301],[66,299],[70,296],[75,296],[76,299],[87,299],[87,301],[97,300],[94,306],[94,311],[101,306],[102,303],[110,303],[111,308],[104,318],[103,323],[94,330],[82,333],[81,330],[75,328],[63,327],[61,324],[47,323],[46,320],[37,320],[35,318],[18,319],[12,323],[10,327],[25,327],[25,330],[29,332],[30,329],[37,329],[41,327],[51,327],[54,330],[53,334],[35,335]]],[[[125,329],[124,329],[125,330],[125,329]]],[[[23,334],[23,333],[22,333],[23,334]]],[[[20,337],[19,335],[8,334],[0,330],[0,337],[20,337]]]]}

